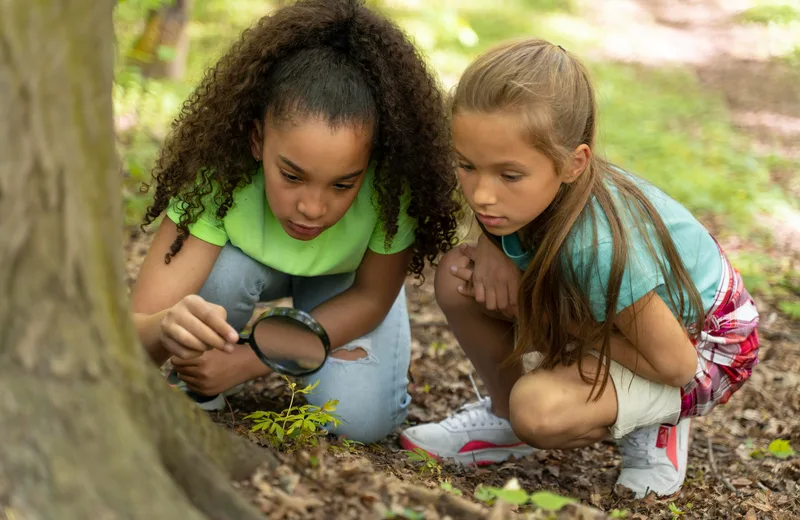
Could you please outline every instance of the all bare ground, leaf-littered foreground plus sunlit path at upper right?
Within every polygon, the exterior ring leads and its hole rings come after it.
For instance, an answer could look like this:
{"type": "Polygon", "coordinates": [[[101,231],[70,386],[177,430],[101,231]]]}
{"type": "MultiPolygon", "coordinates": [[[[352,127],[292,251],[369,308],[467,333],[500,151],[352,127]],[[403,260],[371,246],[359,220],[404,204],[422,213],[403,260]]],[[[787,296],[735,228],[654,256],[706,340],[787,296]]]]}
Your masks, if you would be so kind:
{"type": "MultiPolygon", "coordinates": [[[[768,60],[759,46],[763,34],[757,28],[731,23],[732,4],[596,2],[591,16],[616,31],[598,52],[612,59],[649,64],[661,60],[693,67],[704,83],[725,94],[742,131],[764,146],[777,143],[782,153],[800,155],[800,75],[768,60]],[[608,16],[612,7],[616,13],[627,9],[629,16],[608,16]],[[645,33],[653,44],[631,45],[645,33]],[[764,81],[765,76],[769,81],[764,81]]],[[[797,172],[775,172],[775,180],[789,193],[800,193],[797,172]]],[[[797,255],[797,231],[792,223],[776,226],[779,240],[772,254],[797,255]]],[[[126,245],[129,283],[135,279],[148,242],[148,236],[131,230],[126,245]]],[[[744,247],[735,242],[727,246],[744,247]]],[[[413,280],[407,284],[413,332],[409,425],[439,420],[475,399],[469,379],[472,367],[436,306],[432,273],[427,279],[421,287],[413,280]]],[[[760,298],[757,304],[762,316],[760,363],[752,380],[727,405],[693,422],[686,484],[668,500],[633,501],[615,494],[620,459],[611,443],[540,451],[524,460],[484,468],[442,464],[439,473],[422,473],[420,463],[410,461],[402,451],[396,435],[370,446],[348,447],[331,440],[313,453],[281,455],[286,466],[278,474],[258,475],[241,487],[269,518],[431,519],[486,514],[502,518],[499,510],[492,513],[473,493],[479,484],[502,487],[512,478],[525,490],[574,497],[602,511],[617,510],[617,517],[800,518],[800,456],[782,459],[768,450],[772,441],[785,439],[800,451],[800,324],[777,312],[775,301],[760,298]],[[297,468],[307,469],[298,473],[297,468]],[[451,495],[441,498],[404,487],[416,483],[433,491],[443,481],[472,505],[451,495]]],[[[249,432],[252,423],[244,417],[257,410],[279,411],[288,406],[288,396],[280,378],[267,377],[249,383],[242,393],[229,398],[229,410],[212,417],[263,442],[249,432]]],[[[568,515],[562,517],[580,514],[592,517],[588,510],[562,513],[568,515]]]]}

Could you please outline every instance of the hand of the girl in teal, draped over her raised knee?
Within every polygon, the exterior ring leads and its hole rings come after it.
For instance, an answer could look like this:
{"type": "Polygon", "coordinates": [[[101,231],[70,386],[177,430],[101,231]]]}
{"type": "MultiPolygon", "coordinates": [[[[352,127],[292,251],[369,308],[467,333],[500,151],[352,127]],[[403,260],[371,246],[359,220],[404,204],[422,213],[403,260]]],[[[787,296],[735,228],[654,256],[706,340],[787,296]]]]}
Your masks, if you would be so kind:
{"type": "Polygon", "coordinates": [[[462,244],[461,252],[472,260],[471,269],[451,269],[456,277],[466,282],[459,288],[461,294],[474,297],[487,310],[516,317],[521,273],[514,262],[484,235],[474,246],[462,244]]]}

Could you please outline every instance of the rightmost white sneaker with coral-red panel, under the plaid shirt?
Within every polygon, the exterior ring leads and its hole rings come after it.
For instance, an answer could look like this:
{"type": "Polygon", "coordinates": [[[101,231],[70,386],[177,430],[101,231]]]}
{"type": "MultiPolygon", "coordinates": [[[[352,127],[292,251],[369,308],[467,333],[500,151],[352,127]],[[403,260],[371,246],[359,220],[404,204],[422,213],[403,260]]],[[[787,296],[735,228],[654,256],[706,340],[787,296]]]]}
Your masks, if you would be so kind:
{"type": "Polygon", "coordinates": [[[655,493],[664,497],[677,493],[686,478],[691,421],[676,426],[646,426],[619,441],[622,471],[617,484],[633,491],[636,498],[655,493]]]}

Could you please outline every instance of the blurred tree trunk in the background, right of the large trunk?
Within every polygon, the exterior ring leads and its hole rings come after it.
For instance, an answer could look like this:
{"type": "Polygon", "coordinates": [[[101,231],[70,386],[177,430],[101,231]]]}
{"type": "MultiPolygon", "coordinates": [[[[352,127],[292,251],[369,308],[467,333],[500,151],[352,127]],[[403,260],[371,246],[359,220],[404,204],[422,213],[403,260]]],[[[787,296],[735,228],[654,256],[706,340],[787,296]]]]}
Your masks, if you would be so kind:
{"type": "Polygon", "coordinates": [[[189,56],[191,0],[174,0],[147,13],[142,34],[130,53],[131,61],[149,78],[180,79],[189,56]]]}

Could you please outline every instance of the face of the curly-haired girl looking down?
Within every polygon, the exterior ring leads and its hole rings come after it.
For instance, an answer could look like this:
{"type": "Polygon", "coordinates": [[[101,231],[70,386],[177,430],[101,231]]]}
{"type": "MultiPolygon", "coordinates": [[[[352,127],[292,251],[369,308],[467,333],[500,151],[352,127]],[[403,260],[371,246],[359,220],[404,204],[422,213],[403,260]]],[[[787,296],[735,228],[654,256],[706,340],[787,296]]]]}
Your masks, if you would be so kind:
{"type": "Polygon", "coordinates": [[[256,122],[251,148],[264,166],[267,202],[283,230],[297,240],[318,237],[344,216],[369,165],[370,125],[332,128],[309,117],[274,125],[256,122]]]}

